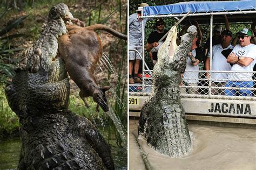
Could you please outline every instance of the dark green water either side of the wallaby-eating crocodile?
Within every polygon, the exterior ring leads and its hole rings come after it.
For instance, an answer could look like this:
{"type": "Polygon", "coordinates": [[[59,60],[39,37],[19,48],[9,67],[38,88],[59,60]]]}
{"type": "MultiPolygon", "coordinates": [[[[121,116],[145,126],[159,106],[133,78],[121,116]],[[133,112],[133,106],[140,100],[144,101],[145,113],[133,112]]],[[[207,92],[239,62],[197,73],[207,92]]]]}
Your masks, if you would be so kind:
{"type": "MultiPolygon", "coordinates": [[[[100,133],[106,136],[108,127],[100,128],[100,133]]],[[[105,138],[106,139],[106,138],[105,138]]],[[[111,146],[111,153],[115,169],[127,169],[127,150],[116,144],[116,139],[107,140],[111,146]]],[[[19,137],[0,139],[0,169],[17,169],[21,141],[19,137]]]]}

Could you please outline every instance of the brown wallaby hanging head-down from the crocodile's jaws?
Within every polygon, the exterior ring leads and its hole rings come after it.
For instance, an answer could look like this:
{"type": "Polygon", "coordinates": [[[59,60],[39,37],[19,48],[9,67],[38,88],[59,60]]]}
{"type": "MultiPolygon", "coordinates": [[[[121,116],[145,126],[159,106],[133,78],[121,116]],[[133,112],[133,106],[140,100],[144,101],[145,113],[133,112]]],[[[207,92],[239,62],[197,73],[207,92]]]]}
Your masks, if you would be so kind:
{"type": "Polygon", "coordinates": [[[65,61],[66,70],[71,79],[75,81],[80,89],[79,96],[85,103],[85,97],[92,96],[105,112],[109,111],[109,105],[105,91],[110,86],[99,87],[93,75],[96,63],[102,57],[103,46],[96,30],[105,30],[113,36],[127,40],[127,36],[119,33],[108,26],[95,24],[87,27],[77,25],[66,25],[68,33],[58,38],[58,51],[60,57],[65,61]]]}

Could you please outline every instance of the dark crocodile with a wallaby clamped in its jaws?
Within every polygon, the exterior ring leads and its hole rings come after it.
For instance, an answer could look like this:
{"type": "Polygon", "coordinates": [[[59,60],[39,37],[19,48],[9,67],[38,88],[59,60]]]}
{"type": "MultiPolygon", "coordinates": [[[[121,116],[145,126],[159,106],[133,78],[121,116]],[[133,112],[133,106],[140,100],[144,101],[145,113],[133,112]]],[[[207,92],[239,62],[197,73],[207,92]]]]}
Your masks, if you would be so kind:
{"type": "Polygon", "coordinates": [[[96,127],[68,110],[70,83],[57,51],[69,13],[63,3],[51,8],[47,25],[5,87],[21,123],[18,169],[114,169],[110,147],[96,127]]]}

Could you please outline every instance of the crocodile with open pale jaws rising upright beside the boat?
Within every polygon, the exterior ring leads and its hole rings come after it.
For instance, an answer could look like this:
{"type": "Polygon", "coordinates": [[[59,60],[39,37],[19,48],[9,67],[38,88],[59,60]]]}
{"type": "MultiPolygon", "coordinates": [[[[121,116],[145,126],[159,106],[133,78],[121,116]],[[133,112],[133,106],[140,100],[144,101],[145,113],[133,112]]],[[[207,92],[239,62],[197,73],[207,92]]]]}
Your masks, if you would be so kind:
{"type": "Polygon", "coordinates": [[[158,51],[152,93],[140,112],[140,137],[154,150],[172,158],[183,157],[192,149],[185,112],[180,103],[179,84],[196,34],[196,26],[190,26],[177,46],[177,27],[171,28],[158,51]]]}

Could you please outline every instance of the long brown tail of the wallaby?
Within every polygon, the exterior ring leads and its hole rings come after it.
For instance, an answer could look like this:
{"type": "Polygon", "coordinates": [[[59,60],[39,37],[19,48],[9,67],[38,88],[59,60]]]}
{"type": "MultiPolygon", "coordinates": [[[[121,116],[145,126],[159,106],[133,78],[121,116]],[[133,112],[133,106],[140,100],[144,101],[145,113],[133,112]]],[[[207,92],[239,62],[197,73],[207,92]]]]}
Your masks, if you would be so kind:
{"type": "Polygon", "coordinates": [[[91,26],[86,26],[87,30],[91,30],[91,31],[96,31],[96,30],[104,30],[106,32],[111,33],[113,36],[116,36],[120,39],[124,39],[127,40],[127,35],[122,34],[116,30],[111,29],[110,27],[103,25],[103,24],[95,24],[95,25],[91,25],[91,26]]]}

